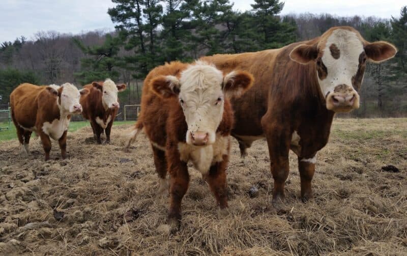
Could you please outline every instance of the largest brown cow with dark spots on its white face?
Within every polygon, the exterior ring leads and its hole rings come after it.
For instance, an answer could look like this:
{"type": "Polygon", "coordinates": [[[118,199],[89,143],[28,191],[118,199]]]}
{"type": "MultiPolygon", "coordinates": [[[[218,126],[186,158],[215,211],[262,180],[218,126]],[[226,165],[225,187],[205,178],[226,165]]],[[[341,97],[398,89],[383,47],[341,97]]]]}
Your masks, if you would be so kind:
{"type": "Polygon", "coordinates": [[[383,62],[397,49],[387,42],[367,42],[352,27],[332,27],[321,37],[281,49],[201,58],[224,73],[245,70],[254,86],[232,99],[241,154],[266,137],[274,178],[273,204],[284,198],[288,152],[298,156],[303,200],[313,197],[316,153],[328,142],[335,112],[359,107],[366,61],[383,62]]]}

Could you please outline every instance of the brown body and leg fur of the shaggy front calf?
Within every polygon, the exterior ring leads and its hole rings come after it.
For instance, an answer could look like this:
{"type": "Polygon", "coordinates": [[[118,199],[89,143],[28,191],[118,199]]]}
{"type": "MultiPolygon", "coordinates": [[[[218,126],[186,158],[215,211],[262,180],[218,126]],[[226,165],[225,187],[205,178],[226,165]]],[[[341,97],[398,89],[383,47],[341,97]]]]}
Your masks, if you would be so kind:
{"type": "MultiPolygon", "coordinates": [[[[153,69],[143,84],[141,98],[141,112],[136,123],[136,128],[144,128],[152,143],[165,148],[164,152],[153,145],[154,163],[159,178],[164,179],[167,172],[170,175],[170,207],[167,217],[169,224],[179,224],[181,219],[181,201],[185,195],[189,174],[187,163],[181,160],[178,144],[186,142],[186,132],[188,130],[185,116],[175,95],[162,97],[153,91],[152,83],[157,77],[173,75],[180,77],[182,70],[187,68],[187,64],[172,62],[153,69]]],[[[164,88],[162,88],[164,90],[164,88]]],[[[159,91],[159,90],[158,90],[159,91]]],[[[168,96],[168,95],[167,95],[168,96]]],[[[217,134],[228,136],[234,123],[233,113],[228,100],[224,102],[223,118],[217,128],[217,134]]],[[[226,166],[228,156],[224,155],[221,162],[213,164],[209,170],[207,181],[215,195],[218,206],[223,209],[227,207],[226,202],[226,166]]]]}

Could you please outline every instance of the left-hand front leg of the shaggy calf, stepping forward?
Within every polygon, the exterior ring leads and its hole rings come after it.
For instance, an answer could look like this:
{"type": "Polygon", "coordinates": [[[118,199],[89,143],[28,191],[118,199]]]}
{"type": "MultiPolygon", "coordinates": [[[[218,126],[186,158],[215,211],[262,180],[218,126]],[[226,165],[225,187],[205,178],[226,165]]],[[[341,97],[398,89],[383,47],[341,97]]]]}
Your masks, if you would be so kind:
{"type": "Polygon", "coordinates": [[[179,229],[181,221],[181,201],[188,189],[189,174],[187,163],[181,161],[178,149],[166,151],[170,175],[170,203],[167,224],[179,229]]]}

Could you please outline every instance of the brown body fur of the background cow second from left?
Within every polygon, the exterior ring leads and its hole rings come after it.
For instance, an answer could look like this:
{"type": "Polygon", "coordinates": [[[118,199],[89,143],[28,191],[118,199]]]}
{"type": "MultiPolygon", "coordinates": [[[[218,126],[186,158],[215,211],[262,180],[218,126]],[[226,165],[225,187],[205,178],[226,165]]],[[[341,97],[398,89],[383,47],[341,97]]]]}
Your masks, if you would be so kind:
{"type": "MultiPolygon", "coordinates": [[[[95,82],[93,82],[95,83],[95,82]]],[[[110,131],[113,125],[113,121],[116,118],[118,113],[118,109],[110,109],[107,110],[104,108],[102,103],[102,91],[97,89],[92,84],[86,84],[83,88],[86,88],[90,91],[87,95],[80,96],[80,104],[82,105],[82,117],[88,119],[91,122],[92,130],[96,142],[98,144],[102,143],[100,139],[100,134],[103,133],[103,128],[96,122],[96,118],[99,117],[106,123],[106,120],[109,116],[111,116],[110,122],[107,124],[105,133],[106,133],[106,140],[105,143],[110,142],[110,131]]],[[[99,84],[103,84],[103,82],[98,82],[99,84]]],[[[119,101],[119,99],[118,99],[119,101]]]]}

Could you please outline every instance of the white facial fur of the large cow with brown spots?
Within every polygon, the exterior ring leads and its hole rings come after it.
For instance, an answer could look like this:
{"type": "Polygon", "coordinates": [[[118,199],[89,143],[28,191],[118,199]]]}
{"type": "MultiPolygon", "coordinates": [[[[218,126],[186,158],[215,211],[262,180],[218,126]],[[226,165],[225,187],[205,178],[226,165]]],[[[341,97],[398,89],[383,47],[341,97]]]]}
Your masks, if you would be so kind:
{"type": "Polygon", "coordinates": [[[359,55],[363,52],[363,43],[355,32],[337,29],[327,39],[322,61],[327,68],[325,79],[318,78],[324,96],[333,92],[339,84],[353,88],[352,77],[358,72],[359,55]],[[334,59],[329,47],[335,44],[340,51],[339,59],[334,59]]]}

